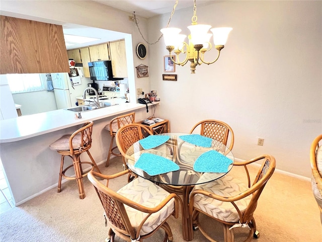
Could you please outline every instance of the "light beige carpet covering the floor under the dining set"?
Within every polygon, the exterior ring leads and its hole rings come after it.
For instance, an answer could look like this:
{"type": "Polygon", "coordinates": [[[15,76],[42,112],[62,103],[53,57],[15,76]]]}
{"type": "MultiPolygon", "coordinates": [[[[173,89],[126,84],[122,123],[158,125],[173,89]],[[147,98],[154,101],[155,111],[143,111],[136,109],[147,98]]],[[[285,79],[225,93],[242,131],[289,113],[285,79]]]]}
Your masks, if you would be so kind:
{"type": "MultiPolygon", "coordinates": [[[[102,173],[112,174],[122,170],[120,157],[113,158],[110,166],[100,165],[102,173]]],[[[232,172],[239,173],[239,168],[232,172]]],[[[252,168],[255,174],[257,167],[252,168]]],[[[58,171],[57,171],[58,172],[58,171]]],[[[58,180],[58,176],[57,176],[58,180]]],[[[0,215],[0,241],[55,241],[55,242],[104,242],[108,228],[105,227],[103,207],[87,179],[86,198],[78,199],[74,180],[62,185],[57,193],[51,189],[26,203],[0,215]]],[[[123,186],[126,180],[110,183],[113,188],[123,186]]],[[[260,237],[258,242],[316,242],[322,241],[322,226],[319,210],[313,198],[309,181],[304,181],[275,172],[268,181],[254,215],[260,237]]],[[[223,241],[222,227],[206,217],[200,220],[218,240],[223,241]]],[[[174,234],[174,241],[184,241],[181,218],[168,220],[174,234]]],[[[144,240],[162,241],[163,231],[144,240]]],[[[246,232],[247,233],[247,232],[246,232]]],[[[246,235],[243,229],[235,230],[235,241],[246,235]]],[[[116,238],[116,241],[123,241],[116,238]]],[[[194,231],[193,241],[208,241],[200,231],[194,231]]]]}

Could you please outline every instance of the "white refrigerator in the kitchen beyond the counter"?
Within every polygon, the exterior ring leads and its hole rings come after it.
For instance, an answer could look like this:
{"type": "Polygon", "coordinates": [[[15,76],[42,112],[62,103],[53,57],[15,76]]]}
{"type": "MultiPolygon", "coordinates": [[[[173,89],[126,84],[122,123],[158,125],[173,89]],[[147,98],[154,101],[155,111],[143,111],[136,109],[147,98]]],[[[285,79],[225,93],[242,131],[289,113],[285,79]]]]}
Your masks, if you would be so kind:
{"type": "Polygon", "coordinates": [[[70,78],[68,73],[52,73],[52,84],[57,109],[76,106],[76,97],[83,96],[87,82],[82,82],[80,76],[70,78]]]}

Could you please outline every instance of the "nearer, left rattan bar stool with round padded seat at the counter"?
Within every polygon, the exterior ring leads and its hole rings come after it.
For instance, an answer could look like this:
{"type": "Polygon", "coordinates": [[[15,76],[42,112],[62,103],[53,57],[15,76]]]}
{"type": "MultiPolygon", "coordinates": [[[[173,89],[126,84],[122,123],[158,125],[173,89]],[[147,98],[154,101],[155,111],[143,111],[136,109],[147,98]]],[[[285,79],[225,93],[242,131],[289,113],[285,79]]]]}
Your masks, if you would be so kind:
{"type": "MultiPolygon", "coordinates": [[[[61,154],[60,161],[60,171],[59,171],[59,179],[58,179],[58,189],[57,192],[60,193],[61,188],[61,177],[68,180],[76,180],[78,186],[79,198],[85,198],[85,191],[83,185],[83,177],[87,175],[89,171],[84,172],[82,165],[90,164],[92,165],[92,170],[96,168],[98,172],[100,172],[97,164],[95,163],[89,149],[92,146],[92,129],[93,129],[93,121],[87,122],[83,125],[81,129],[76,130],[71,135],[64,135],[60,139],[53,142],[49,147],[52,150],[56,150],[59,154],[61,154]],[[89,155],[90,161],[81,161],[81,154],[87,152],[89,155]],[[65,169],[63,169],[64,165],[64,157],[69,156],[72,159],[72,165],[69,165],[65,169]],[[75,171],[75,176],[67,176],[65,172],[73,167],[75,171]]],[[[100,172],[101,173],[101,172],[100,172]]]]}

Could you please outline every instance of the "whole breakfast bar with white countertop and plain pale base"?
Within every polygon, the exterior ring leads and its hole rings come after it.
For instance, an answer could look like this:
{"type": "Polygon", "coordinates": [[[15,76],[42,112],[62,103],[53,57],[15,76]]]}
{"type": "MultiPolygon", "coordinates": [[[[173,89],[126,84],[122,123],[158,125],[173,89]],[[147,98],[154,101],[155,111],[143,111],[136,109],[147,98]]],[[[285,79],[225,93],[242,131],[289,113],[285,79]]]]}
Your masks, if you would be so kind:
{"type": "MultiPolygon", "coordinates": [[[[159,102],[149,104],[156,108],[159,102]]],[[[123,113],[135,111],[136,120],[147,118],[145,105],[120,103],[82,112],[75,119],[75,112],[59,109],[16,118],[0,120],[0,155],[6,178],[16,205],[36,197],[57,186],[60,155],[49,145],[66,134],[72,134],[84,123],[94,121],[91,153],[97,164],[105,162],[110,136],[104,127],[123,113]]],[[[84,154],[84,160],[89,159],[84,154]]],[[[120,167],[122,169],[122,167],[120,167]]]]}

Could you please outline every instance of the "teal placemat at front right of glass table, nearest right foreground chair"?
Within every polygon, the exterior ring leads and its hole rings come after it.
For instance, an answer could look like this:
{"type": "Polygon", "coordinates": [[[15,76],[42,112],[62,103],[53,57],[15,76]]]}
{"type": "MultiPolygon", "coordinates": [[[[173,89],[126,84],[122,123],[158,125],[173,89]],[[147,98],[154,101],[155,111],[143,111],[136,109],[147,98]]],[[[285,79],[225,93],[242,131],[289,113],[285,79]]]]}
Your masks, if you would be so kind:
{"type": "Polygon", "coordinates": [[[231,163],[232,160],[218,151],[209,150],[197,158],[193,169],[198,172],[224,173],[228,171],[228,166],[231,163]]]}

